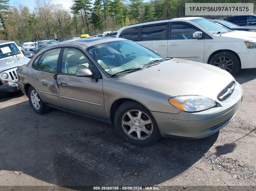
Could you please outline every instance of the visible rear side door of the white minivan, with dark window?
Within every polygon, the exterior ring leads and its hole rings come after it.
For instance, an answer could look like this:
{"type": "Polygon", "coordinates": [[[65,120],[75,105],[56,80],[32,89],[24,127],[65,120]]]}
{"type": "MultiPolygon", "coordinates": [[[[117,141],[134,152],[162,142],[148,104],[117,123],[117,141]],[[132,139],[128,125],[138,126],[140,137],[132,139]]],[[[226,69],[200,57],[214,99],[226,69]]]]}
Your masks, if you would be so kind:
{"type": "Polygon", "coordinates": [[[139,29],[138,43],[151,50],[156,51],[162,56],[168,56],[168,22],[143,25],[139,29]]]}

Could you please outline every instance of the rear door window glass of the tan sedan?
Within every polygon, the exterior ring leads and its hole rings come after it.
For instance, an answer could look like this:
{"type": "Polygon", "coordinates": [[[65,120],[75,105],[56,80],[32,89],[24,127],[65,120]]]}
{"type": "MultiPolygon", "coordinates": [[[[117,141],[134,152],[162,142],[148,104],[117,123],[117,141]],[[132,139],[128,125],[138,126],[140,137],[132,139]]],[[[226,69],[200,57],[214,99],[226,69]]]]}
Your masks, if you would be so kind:
{"type": "Polygon", "coordinates": [[[60,48],[46,51],[38,62],[38,69],[57,72],[57,63],[60,51],[60,48]]]}

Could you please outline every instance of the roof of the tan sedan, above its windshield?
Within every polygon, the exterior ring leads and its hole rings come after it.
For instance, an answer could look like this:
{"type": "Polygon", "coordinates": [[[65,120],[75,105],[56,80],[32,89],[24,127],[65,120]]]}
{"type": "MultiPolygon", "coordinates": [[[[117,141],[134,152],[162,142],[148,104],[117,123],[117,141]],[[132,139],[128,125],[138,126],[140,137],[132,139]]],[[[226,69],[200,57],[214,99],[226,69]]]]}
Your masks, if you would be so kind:
{"type": "Polygon", "coordinates": [[[113,37],[88,37],[88,38],[66,40],[66,41],[60,42],[60,44],[75,43],[75,44],[80,44],[80,45],[89,47],[96,44],[117,41],[117,40],[125,40],[125,39],[113,38],[113,37]]]}

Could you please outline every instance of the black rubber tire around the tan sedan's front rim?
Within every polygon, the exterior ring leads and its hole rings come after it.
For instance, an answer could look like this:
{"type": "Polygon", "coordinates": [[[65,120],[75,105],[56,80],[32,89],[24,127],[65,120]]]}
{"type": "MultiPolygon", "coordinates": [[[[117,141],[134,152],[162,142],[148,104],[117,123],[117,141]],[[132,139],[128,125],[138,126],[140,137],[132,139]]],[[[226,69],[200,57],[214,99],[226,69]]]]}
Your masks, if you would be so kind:
{"type": "Polygon", "coordinates": [[[122,140],[124,140],[125,142],[130,143],[132,145],[150,146],[150,145],[153,145],[155,142],[157,142],[161,137],[157,123],[156,123],[154,117],[152,116],[152,114],[150,113],[150,111],[146,107],[144,107],[143,105],[141,105],[140,103],[135,102],[135,101],[125,101],[118,107],[118,109],[115,113],[114,125],[115,125],[115,130],[116,130],[117,134],[120,136],[120,138],[122,140]],[[143,140],[136,140],[136,139],[129,137],[125,133],[125,130],[122,127],[122,118],[125,115],[125,113],[130,110],[140,110],[140,111],[144,112],[146,115],[148,115],[148,117],[151,119],[153,128],[152,128],[151,135],[149,135],[148,138],[143,139],[143,140]]]}

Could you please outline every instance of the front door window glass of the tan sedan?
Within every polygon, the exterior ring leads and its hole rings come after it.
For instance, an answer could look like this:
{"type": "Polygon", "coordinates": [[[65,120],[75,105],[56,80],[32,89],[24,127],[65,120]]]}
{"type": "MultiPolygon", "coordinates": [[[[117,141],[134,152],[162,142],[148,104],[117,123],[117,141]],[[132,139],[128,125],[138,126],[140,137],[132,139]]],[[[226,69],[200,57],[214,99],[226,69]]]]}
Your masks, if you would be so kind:
{"type": "Polygon", "coordinates": [[[75,74],[78,70],[90,69],[93,63],[78,49],[65,48],[62,55],[62,73],[75,74]]]}

